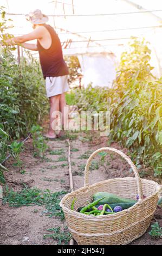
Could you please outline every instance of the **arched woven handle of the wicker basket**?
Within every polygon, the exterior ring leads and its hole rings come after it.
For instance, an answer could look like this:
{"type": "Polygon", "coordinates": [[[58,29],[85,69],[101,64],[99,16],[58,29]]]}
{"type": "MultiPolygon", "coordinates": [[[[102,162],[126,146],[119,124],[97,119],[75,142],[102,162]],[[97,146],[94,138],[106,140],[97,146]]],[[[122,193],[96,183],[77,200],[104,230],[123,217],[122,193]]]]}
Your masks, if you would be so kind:
{"type": "Polygon", "coordinates": [[[135,178],[137,179],[139,200],[142,200],[142,198],[143,198],[142,185],[141,185],[141,180],[140,180],[140,176],[139,176],[137,168],[135,167],[134,163],[132,162],[132,160],[127,155],[122,153],[120,150],[114,149],[114,148],[101,148],[101,149],[97,149],[97,150],[95,150],[92,153],[92,155],[89,156],[89,159],[87,160],[86,167],[85,167],[85,186],[89,184],[89,167],[90,167],[90,164],[92,162],[92,159],[98,153],[100,153],[102,151],[112,151],[112,152],[115,152],[115,153],[119,154],[120,156],[122,156],[129,163],[129,165],[131,166],[131,168],[132,168],[132,170],[134,172],[135,178]]]}

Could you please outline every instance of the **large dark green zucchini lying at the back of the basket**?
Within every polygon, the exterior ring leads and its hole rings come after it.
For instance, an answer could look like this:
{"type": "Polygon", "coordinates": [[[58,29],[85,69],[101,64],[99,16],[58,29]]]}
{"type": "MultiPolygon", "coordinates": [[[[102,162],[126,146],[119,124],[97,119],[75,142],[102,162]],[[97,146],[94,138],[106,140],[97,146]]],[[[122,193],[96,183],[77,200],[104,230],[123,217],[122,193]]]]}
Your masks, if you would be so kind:
{"type": "MultiPolygon", "coordinates": [[[[133,199],[128,199],[128,198],[122,198],[122,197],[118,197],[116,196],[116,194],[112,194],[112,193],[108,193],[108,192],[98,192],[98,193],[95,193],[93,195],[93,200],[98,200],[102,197],[105,197],[103,198],[101,201],[100,201],[100,205],[101,204],[121,204],[121,203],[137,203],[136,200],[133,200],[133,199]]],[[[132,205],[131,205],[132,206],[132,205]]],[[[131,207],[129,206],[129,207],[131,207]]]]}

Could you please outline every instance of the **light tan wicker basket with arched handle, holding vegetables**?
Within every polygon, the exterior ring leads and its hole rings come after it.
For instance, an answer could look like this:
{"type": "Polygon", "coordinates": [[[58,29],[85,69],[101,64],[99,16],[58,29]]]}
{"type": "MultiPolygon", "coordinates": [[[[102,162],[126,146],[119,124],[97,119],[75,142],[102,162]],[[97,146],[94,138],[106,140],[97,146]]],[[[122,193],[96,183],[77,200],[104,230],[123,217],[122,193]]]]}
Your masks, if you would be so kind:
{"type": "Polygon", "coordinates": [[[160,185],[157,182],[140,179],[138,170],[131,159],[114,148],[101,148],[89,157],[85,167],[85,186],[64,196],[60,206],[64,211],[70,233],[79,245],[126,245],[145,233],[157,207],[160,185]],[[88,184],[89,166],[101,151],[112,151],[130,164],[135,178],[115,178],[88,184]],[[93,194],[107,191],[125,198],[139,200],[131,208],[113,215],[93,216],[77,212],[77,209],[92,201],[93,194]],[[143,194],[147,197],[143,198],[143,194]],[[73,199],[74,210],[70,210],[73,199]]]}

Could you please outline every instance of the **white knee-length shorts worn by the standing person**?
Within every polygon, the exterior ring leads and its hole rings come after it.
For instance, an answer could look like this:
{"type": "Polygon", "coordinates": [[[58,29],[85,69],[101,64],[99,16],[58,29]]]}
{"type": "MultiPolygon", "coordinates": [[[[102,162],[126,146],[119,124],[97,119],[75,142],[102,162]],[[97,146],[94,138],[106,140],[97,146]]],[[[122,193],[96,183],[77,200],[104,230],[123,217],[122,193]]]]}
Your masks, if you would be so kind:
{"type": "Polygon", "coordinates": [[[66,93],[69,90],[68,76],[46,77],[47,97],[66,93]]]}

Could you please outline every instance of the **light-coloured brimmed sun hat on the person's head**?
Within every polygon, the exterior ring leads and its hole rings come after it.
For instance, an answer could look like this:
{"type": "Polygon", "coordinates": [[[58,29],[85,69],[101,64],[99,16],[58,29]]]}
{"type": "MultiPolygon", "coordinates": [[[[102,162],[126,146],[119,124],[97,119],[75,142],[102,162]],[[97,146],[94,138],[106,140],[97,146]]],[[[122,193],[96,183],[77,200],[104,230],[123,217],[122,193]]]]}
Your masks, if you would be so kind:
{"type": "Polygon", "coordinates": [[[48,17],[38,9],[30,11],[29,14],[25,15],[25,18],[33,24],[43,24],[48,21],[48,17]]]}

